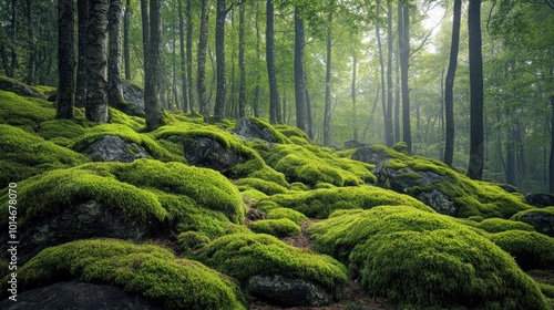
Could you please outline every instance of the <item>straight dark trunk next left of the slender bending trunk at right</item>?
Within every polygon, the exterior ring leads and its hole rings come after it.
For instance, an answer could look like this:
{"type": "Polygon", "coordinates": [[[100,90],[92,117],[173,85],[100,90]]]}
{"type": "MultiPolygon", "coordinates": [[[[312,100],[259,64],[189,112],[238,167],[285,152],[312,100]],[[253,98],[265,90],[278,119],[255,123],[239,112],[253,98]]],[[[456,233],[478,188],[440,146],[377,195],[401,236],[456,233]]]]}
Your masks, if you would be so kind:
{"type": "MultiPolygon", "coordinates": [[[[400,25],[399,25],[400,27],[400,25]]],[[[400,37],[400,79],[402,82],[402,140],[412,153],[410,126],[410,89],[408,86],[408,70],[410,69],[410,10],[402,4],[402,37],[400,37]]]]}

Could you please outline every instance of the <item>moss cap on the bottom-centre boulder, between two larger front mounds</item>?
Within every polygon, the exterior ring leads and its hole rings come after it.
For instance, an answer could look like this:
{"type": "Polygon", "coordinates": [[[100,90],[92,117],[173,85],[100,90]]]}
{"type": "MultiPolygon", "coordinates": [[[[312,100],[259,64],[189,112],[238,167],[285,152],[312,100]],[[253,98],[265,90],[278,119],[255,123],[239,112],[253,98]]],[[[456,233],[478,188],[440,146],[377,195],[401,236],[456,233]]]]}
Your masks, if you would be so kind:
{"type": "Polygon", "coordinates": [[[198,259],[246,282],[253,276],[280,275],[321,285],[336,294],[347,282],[347,270],[325,255],[305,252],[268,235],[234,234],[213,240],[198,259]]]}

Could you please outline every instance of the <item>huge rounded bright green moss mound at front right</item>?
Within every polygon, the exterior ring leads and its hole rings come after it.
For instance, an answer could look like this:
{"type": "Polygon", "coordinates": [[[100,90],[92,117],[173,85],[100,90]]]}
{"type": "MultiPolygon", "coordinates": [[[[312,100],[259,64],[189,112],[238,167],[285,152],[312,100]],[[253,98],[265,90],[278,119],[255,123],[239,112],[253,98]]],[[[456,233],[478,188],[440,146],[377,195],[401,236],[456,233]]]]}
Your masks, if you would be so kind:
{"type": "Polygon", "coordinates": [[[443,215],[377,207],[309,227],[314,248],[348,264],[370,294],[401,309],[547,309],[509,254],[443,215]]]}

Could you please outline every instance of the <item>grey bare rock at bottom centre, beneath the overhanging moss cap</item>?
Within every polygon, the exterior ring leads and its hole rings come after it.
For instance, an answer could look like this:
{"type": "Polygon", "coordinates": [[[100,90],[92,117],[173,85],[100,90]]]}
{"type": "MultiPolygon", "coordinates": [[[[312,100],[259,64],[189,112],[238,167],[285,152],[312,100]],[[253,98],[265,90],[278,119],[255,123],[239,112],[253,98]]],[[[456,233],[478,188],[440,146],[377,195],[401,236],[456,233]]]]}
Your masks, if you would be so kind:
{"type": "Polygon", "coordinates": [[[322,288],[283,276],[254,276],[248,280],[250,293],[284,306],[326,306],[332,300],[322,288]]]}

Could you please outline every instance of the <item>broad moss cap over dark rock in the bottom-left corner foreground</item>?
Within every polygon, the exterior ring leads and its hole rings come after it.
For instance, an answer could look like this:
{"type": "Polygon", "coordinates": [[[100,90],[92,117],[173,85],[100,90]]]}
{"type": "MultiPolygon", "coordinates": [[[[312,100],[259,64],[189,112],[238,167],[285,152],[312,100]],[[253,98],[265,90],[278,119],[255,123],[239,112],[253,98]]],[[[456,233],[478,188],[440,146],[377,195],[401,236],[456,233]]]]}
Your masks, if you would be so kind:
{"type": "MultiPolygon", "coordinates": [[[[18,289],[69,279],[115,285],[163,309],[246,309],[239,287],[204,265],[157,246],[81,240],[48,248],[18,270],[18,289]]],[[[6,297],[7,281],[2,281],[6,297]]]]}

